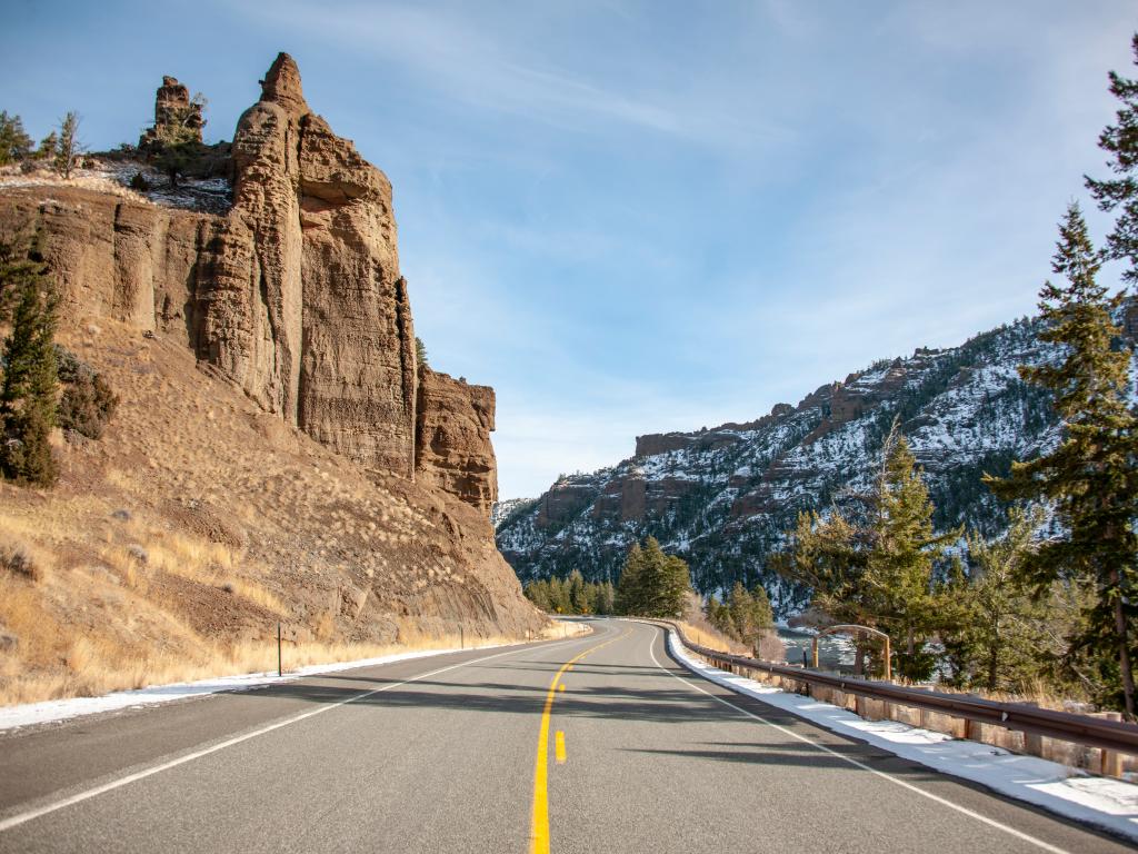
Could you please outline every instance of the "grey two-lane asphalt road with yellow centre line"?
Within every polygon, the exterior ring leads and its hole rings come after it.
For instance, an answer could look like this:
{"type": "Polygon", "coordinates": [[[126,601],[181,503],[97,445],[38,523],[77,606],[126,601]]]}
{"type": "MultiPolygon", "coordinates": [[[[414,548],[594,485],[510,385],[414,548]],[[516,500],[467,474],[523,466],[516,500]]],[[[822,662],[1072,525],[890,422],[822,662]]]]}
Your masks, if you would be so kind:
{"type": "Polygon", "coordinates": [[[594,625],[2,736],[0,852],[1132,851],[594,625]]]}

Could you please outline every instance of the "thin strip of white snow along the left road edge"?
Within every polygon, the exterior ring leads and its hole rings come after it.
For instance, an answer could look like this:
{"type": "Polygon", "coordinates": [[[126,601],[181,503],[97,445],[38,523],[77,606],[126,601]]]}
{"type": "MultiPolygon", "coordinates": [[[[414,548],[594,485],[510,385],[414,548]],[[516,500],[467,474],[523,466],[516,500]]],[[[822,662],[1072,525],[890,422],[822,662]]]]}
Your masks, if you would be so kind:
{"type": "Polygon", "coordinates": [[[134,691],[115,691],[102,697],[72,697],[63,700],[44,700],[43,703],[27,703],[22,706],[0,707],[0,732],[16,729],[17,726],[32,726],[41,723],[53,723],[66,721],[72,717],[93,715],[101,712],[118,712],[124,708],[141,708],[159,703],[172,703],[184,700],[190,697],[201,697],[207,693],[218,693],[221,691],[248,691],[256,688],[265,688],[280,682],[291,682],[304,676],[313,676],[321,673],[338,673],[340,671],[354,670],[355,667],[372,667],[377,664],[391,664],[393,662],[405,662],[411,658],[427,658],[429,656],[445,655],[447,652],[462,652],[471,649],[490,649],[494,647],[510,646],[506,643],[485,643],[465,647],[463,649],[421,649],[411,652],[395,652],[389,656],[378,658],[361,658],[355,662],[336,662],[335,664],[312,664],[307,667],[298,667],[295,671],[278,676],[273,671],[265,673],[246,673],[239,676],[217,676],[215,679],[204,679],[198,682],[175,682],[168,685],[150,685],[134,691]]]}

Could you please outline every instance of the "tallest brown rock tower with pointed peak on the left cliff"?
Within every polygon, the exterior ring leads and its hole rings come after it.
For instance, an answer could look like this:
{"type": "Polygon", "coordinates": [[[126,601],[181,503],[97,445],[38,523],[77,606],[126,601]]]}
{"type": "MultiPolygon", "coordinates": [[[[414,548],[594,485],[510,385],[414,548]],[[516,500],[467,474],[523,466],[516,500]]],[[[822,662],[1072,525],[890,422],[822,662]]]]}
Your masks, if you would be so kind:
{"type": "Polygon", "coordinates": [[[282,54],[233,139],[225,268],[204,354],[365,468],[414,473],[414,330],[391,187],[304,98],[282,54]]]}

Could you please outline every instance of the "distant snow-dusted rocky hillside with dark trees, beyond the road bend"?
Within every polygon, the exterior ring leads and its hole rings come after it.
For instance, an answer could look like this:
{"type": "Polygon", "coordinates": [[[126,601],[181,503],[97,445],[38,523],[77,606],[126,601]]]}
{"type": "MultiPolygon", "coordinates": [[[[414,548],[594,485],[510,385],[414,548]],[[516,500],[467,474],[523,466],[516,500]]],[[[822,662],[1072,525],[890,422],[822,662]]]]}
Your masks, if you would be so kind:
{"type": "Polygon", "coordinates": [[[801,510],[868,485],[894,418],[925,469],[938,526],[1000,527],[981,474],[1003,474],[1058,438],[1047,396],[1016,372],[1049,358],[1038,331],[1020,320],[875,363],[753,421],[637,436],[633,457],[514,507],[498,522],[498,548],[523,581],[574,567],[612,578],[628,545],[652,534],[688,560],[701,592],[760,582],[789,616],[806,591],[772,573],[767,556],[801,510]]]}

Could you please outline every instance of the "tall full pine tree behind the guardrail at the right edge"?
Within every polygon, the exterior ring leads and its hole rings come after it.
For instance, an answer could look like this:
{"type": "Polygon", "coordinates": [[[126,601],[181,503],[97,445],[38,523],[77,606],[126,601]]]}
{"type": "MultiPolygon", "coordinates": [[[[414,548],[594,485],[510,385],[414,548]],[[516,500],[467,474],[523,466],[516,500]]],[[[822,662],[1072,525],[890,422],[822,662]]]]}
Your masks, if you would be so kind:
{"type": "Polygon", "coordinates": [[[1049,389],[1063,428],[1055,451],[1016,462],[1005,479],[987,477],[1005,499],[1048,501],[1066,535],[1028,555],[1021,574],[1040,596],[1056,580],[1086,580],[1097,601],[1086,614],[1087,629],[1075,646],[1111,655],[1118,665],[1122,707],[1135,717],[1130,626],[1138,580],[1138,422],[1127,402],[1131,352],[1120,346],[1111,315],[1121,294],[1107,295],[1095,280],[1102,256],[1087,235],[1077,204],[1059,225],[1052,269],[1066,279],[1046,282],[1040,311],[1042,340],[1063,350],[1063,361],[1021,368],[1030,383],[1049,389]]]}

